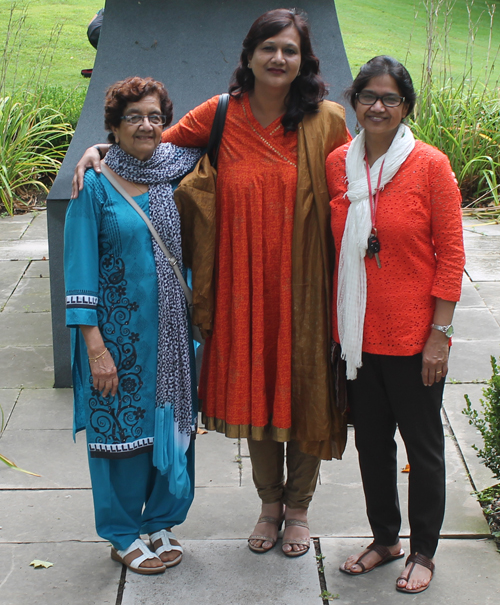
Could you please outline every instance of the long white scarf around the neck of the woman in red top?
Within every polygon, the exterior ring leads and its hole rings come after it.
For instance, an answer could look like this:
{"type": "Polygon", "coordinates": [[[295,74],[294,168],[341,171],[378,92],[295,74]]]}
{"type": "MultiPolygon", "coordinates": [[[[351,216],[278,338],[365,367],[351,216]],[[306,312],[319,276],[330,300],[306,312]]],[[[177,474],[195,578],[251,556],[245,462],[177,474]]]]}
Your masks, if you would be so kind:
{"type": "MultiPolygon", "coordinates": [[[[400,124],[387,153],[370,169],[372,183],[377,183],[384,164],[380,189],[389,183],[415,147],[415,139],[405,124],[400,124]]],[[[347,363],[347,378],[354,380],[362,366],[361,352],[366,311],[365,254],[372,231],[370,198],[365,166],[365,131],[353,139],[346,156],[347,213],[339,258],[337,317],[342,358],[347,363]]],[[[373,191],[375,195],[375,191],[373,191]]],[[[384,240],[381,238],[381,250],[384,240]]],[[[382,252],[383,254],[383,252],[382,252]]]]}

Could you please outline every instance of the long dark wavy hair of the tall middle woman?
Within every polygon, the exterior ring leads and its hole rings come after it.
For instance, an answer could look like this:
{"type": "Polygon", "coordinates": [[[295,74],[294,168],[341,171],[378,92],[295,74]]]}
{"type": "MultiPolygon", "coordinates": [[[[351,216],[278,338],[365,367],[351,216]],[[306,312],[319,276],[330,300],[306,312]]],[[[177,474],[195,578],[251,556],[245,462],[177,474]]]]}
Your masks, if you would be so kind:
{"type": "Polygon", "coordinates": [[[229,92],[239,98],[244,92],[253,90],[255,77],[248,67],[248,57],[253,55],[258,44],[276,36],[293,25],[300,36],[301,65],[298,75],[290,86],[285,99],[286,113],[281,123],[285,132],[297,130],[297,126],[307,113],[318,110],[319,103],[328,94],[326,84],[319,72],[319,59],[313,52],[307,15],[291,8],[278,8],[261,15],[250,28],[243,40],[240,63],[233,73],[229,92]]]}

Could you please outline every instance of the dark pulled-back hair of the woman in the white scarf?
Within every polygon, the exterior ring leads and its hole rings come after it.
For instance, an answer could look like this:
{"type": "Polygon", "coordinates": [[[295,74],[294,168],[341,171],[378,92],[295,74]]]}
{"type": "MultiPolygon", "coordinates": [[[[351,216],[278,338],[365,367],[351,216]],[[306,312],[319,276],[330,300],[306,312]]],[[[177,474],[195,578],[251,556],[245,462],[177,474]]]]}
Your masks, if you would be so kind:
{"type": "Polygon", "coordinates": [[[361,66],[358,75],[354,78],[354,82],[344,93],[346,99],[356,109],[356,95],[366,88],[372,78],[384,76],[385,74],[394,78],[401,96],[405,98],[405,104],[408,105],[407,115],[410,115],[417,99],[411,76],[404,65],[387,55],[373,57],[368,63],[361,66]]]}

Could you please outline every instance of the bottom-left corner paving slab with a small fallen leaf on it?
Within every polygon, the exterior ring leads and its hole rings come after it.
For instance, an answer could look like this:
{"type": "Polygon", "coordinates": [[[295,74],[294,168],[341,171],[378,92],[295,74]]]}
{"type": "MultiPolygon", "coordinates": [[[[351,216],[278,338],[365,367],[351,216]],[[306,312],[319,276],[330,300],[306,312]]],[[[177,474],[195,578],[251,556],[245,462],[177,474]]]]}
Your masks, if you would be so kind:
{"type": "Polygon", "coordinates": [[[0,544],[2,605],[115,605],[121,565],[102,543],[0,544]],[[34,559],[53,567],[34,569],[34,559]]]}

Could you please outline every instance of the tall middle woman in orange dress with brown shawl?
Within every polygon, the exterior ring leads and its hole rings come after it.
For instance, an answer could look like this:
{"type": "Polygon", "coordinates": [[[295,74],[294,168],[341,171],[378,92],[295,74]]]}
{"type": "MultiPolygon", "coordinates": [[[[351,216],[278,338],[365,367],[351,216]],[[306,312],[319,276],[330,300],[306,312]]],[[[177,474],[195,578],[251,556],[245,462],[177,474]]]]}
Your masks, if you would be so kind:
{"type": "MultiPolygon", "coordinates": [[[[283,552],[299,556],[309,549],[307,508],[320,460],[340,458],[345,446],[329,371],[324,165],[349,135],[343,108],[323,100],[307,21],[295,10],[254,22],[229,90],[218,156],[214,324],[199,394],[209,429],[248,438],[262,500],[250,549],[270,550],[284,520],[283,552]]],[[[189,112],[163,141],[206,147],[217,103],[189,112]]]]}

